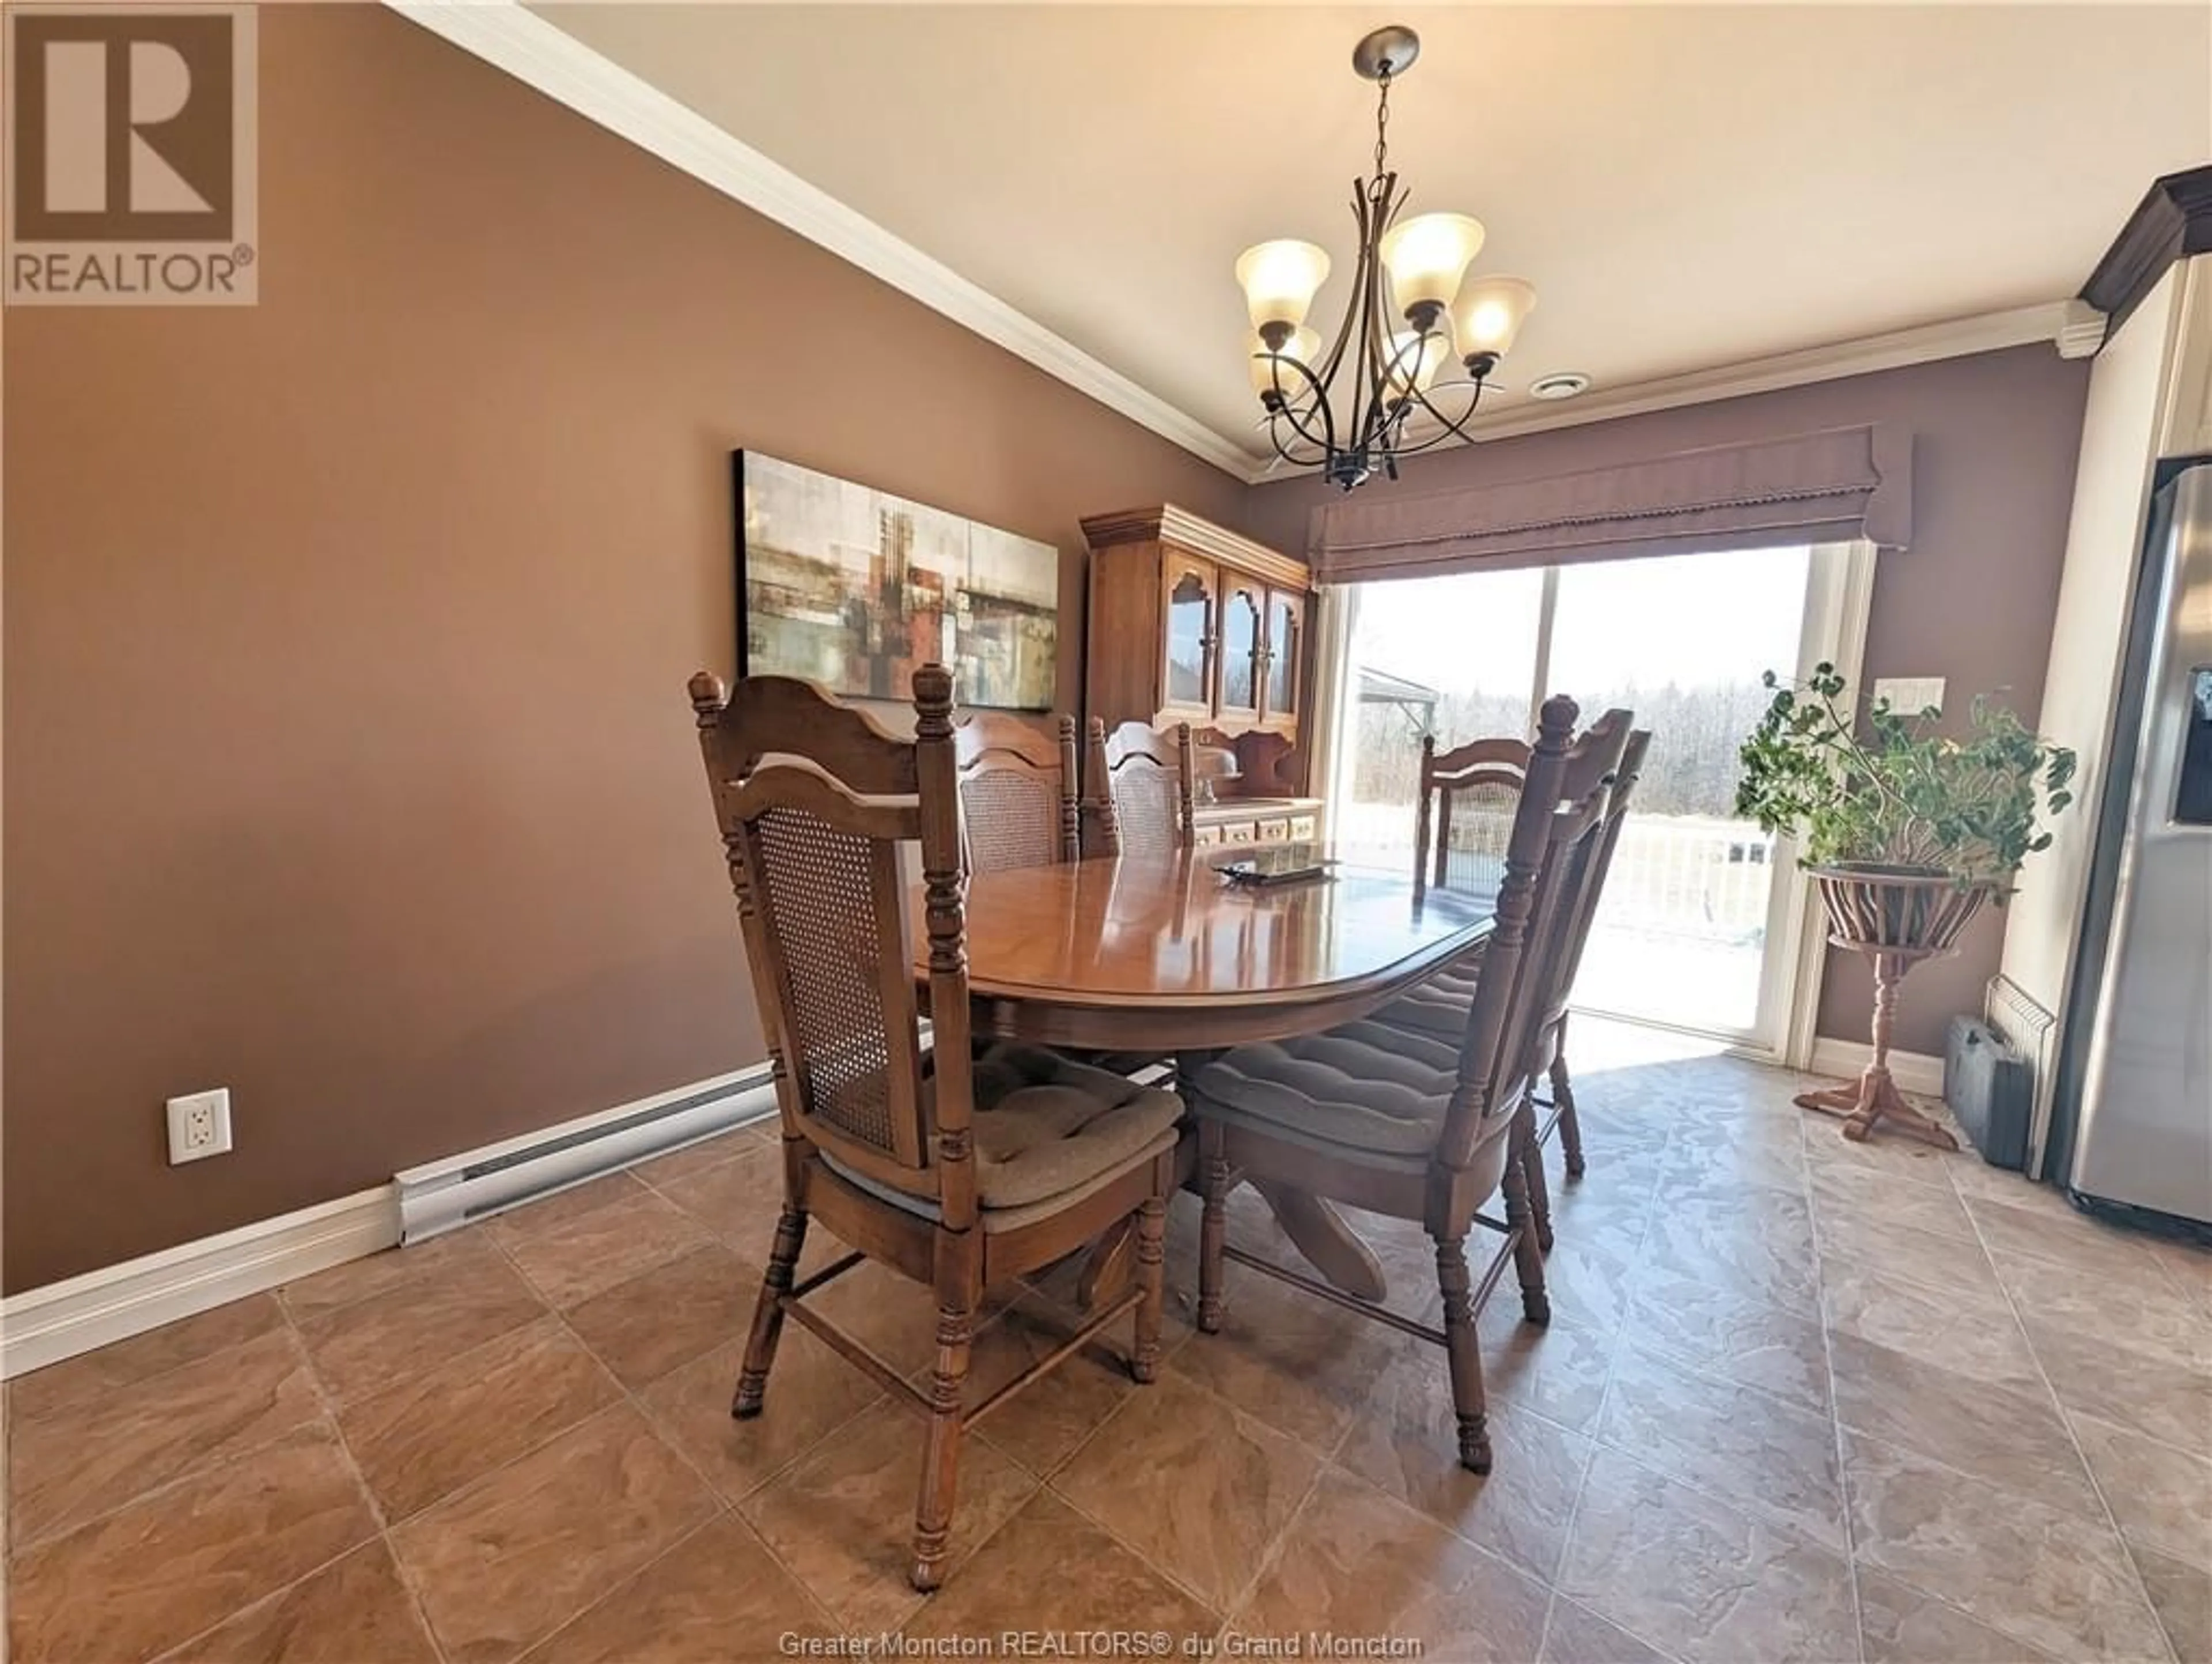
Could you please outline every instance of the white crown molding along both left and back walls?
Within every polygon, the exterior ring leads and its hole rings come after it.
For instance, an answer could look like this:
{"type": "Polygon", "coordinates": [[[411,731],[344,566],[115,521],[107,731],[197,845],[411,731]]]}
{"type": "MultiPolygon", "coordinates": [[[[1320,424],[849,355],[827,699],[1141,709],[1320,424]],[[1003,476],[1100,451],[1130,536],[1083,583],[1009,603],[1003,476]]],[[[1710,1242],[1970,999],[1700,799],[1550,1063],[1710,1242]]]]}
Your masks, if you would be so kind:
{"type": "MultiPolygon", "coordinates": [[[[1099,363],[1026,312],[535,15],[520,0],[385,0],[385,4],[1225,474],[1248,485],[1279,478],[1274,467],[1245,445],[1099,363]]],[[[2068,358],[2088,356],[2101,339],[2099,312],[2081,301],[2051,301],[1606,387],[1553,405],[1531,401],[1482,416],[1469,431],[1475,440],[1544,434],[2033,343],[2053,343],[2068,358]]],[[[1305,471],[1281,478],[1305,478],[1305,471]]]]}

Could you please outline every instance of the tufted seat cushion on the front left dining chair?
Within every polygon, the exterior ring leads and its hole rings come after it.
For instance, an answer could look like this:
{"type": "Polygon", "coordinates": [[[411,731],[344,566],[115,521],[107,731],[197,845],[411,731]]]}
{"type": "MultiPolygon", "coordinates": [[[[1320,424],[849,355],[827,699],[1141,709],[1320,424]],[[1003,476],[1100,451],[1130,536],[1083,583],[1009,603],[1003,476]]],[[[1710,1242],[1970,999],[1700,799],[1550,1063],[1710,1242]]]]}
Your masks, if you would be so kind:
{"type": "Polygon", "coordinates": [[[975,1197],[1024,1208],[1079,1190],[1141,1155],[1183,1100],[1046,1047],[1002,1044],[975,1060],[975,1197]]]}

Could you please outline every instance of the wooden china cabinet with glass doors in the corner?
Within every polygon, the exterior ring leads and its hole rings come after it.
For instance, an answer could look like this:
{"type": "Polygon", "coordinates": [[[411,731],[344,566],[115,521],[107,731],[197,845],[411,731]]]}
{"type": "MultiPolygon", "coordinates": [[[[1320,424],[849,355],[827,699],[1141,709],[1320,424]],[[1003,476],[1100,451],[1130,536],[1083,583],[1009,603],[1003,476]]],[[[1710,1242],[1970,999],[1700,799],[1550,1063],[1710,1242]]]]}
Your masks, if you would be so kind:
{"type": "Polygon", "coordinates": [[[1212,799],[1199,803],[1199,843],[1316,836],[1301,743],[1312,573],[1175,505],[1095,513],[1084,540],[1086,715],[1108,728],[1190,724],[1212,799]]]}

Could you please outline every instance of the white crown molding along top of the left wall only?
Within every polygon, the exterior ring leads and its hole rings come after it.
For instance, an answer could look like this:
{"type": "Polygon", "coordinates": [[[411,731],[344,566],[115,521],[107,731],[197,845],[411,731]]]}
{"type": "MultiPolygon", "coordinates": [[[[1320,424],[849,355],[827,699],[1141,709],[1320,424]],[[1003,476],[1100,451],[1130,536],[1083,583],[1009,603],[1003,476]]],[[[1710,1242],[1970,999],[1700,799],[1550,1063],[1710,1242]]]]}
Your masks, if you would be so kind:
{"type": "Polygon", "coordinates": [[[487,64],[535,86],[641,150],[681,168],[869,277],[909,294],[984,341],[1088,394],[1217,469],[1245,478],[1252,451],[1234,445],[1119,370],[1062,341],[1035,319],[931,259],[874,219],[810,186],[781,162],[732,137],[686,104],[595,53],[520,0],[385,0],[487,64]]]}

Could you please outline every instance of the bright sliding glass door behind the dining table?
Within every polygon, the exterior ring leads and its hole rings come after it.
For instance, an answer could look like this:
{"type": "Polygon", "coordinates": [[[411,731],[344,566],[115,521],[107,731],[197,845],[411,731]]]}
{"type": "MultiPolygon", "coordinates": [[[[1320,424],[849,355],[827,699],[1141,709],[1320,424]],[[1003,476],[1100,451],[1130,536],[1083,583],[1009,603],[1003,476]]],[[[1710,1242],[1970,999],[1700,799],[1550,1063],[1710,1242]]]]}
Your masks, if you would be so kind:
{"type": "Polygon", "coordinates": [[[1336,836],[1411,870],[1420,739],[1528,735],[1568,693],[1652,730],[1575,1005],[1783,1051],[1803,901],[1739,821],[1736,746],[1765,670],[1836,657],[1856,551],[1750,549],[1420,578],[1352,591],[1336,836]]]}

